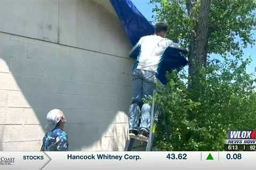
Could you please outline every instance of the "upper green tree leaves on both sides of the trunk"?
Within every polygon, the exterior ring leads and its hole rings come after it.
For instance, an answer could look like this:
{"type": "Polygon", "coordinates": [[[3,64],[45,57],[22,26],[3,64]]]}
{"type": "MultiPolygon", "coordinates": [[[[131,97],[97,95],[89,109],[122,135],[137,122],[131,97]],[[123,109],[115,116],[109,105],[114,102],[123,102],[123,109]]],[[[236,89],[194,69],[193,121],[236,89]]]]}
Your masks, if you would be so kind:
{"type": "MultiPolygon", "coordinates": [[[[197,23],[199,1],[194,4],[194,15],[190,16],[186,1],[150,0],[150,3],[159,4],[153,11],[156,12],[158,21],[169,24],[167,37],[188,47],[189,35],[195,30],[197,23]]],[[[255,8],[254,0],[212,0],[208,54],[236,55],[248,45],[255,44],[251,34],[256,29],[255,8]],[[238,37],[241,38],[241,43],[237,42],[238,37]]]]}

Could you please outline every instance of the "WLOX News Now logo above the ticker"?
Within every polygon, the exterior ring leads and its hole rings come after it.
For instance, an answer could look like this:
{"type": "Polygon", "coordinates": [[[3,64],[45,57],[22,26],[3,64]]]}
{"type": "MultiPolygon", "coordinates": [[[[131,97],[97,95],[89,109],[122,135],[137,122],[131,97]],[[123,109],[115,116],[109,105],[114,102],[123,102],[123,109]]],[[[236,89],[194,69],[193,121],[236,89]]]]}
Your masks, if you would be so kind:
{"type": "Polygon", "coordinates": [[[256,130],[229,130],[227,144],[256,144],[256,130]]]}

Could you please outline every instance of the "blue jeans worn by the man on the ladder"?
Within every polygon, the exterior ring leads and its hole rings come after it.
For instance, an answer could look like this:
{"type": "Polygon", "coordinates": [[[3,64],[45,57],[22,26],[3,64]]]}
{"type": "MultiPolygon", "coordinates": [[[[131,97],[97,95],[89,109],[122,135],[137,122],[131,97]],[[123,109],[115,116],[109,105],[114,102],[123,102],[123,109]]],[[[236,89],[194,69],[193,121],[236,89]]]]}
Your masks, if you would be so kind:
{"type": "Polygon", "coordinates": [[[156,80],[156,74],[147,70],[134,69],[132,72],[132,86],[133,86],[133,98],[132,104],[129,107],[129,130],[141,130],[149,131],[150,129],[150,109],[151,106],[147,103],[140,107],[142,99],[148,99],[149,95],[153,94],[154,81],[156,80]],[[141,122],[139,125],[139,116],[141,114],[141,122]]]}

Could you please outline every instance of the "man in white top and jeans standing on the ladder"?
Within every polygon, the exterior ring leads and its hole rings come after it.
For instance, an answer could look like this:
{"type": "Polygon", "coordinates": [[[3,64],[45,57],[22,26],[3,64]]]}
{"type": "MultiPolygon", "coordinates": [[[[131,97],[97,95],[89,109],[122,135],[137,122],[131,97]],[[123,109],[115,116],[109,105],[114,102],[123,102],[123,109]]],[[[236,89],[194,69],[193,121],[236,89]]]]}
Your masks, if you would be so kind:
{"type": "Polygon", "coordinates": [[[130,52],[130,57],[137,57],[132,71],[133,98],[132,104],[129,107],[130,138],[142,141],[148,140],[151,106],[147,103],[143,104],[142,99],[148,99],[150,95],[153,95],[154,81],[157,80],[156,75],[159,65],[161,65],[165,49],[172,47],[186,50],[178,44],[173,43],[172,40],[165,38],[166,33],[166,24],[156,24],[154,35],[141,37],[130,52]]]}

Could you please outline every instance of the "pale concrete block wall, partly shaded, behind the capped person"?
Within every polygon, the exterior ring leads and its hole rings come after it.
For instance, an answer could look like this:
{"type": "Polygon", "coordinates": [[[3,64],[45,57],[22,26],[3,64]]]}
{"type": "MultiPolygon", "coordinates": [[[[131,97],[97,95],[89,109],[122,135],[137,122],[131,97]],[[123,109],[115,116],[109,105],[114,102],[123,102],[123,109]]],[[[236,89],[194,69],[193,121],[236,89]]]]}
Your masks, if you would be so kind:
{"type": "Polygon", "coordinates": [[[0,150],[39,150],[53,108],[69,150],[124,150],[134,61],[119,20],[87,0],[38,0],[1,1],[0,23],[0,150]]]}

